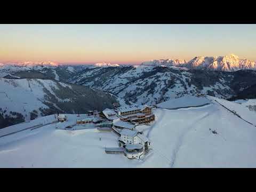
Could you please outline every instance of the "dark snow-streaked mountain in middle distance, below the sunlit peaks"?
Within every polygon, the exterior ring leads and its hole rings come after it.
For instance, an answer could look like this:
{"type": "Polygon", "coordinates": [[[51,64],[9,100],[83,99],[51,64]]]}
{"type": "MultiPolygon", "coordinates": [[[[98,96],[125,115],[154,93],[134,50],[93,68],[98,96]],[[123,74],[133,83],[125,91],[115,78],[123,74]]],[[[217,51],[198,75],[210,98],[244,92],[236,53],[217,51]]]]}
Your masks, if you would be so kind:
{"type": "Polygon", "coordinates": [[[126,103],[148,105],[187,94],[228,99],[255,84],[256,71],[195,70],[180,67],[108,67],[86,69],[69,79],[115,94],[126,103]]]}

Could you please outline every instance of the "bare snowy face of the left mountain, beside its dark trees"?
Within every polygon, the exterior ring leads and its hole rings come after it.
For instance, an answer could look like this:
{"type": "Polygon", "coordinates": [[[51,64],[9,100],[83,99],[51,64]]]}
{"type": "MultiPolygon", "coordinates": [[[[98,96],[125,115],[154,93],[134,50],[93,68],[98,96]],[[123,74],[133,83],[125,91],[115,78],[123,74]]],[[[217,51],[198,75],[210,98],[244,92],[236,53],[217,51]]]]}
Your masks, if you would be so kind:
{"type": "MultiPolygon", "coordinates": [[[[25,117],[25,120],[30,119],[30,112],[39,108],[49,108],[44,101],[44,95],[41,83],[49,83],[55,86],[51,80],[43,81],[42,79],[4,79],[0,78],[1,100],[0,107],[3,115],[10,115],[11,111],[18,112],[25,117]]],[[[43,84],[44,85],[44,84],[43,84]]],[[[47,86],[50,92],[53,92],[50,86],[47,86]]],[[[46,88],[47,89],[47,88],[46,88]]],[[[41,116],[40,114],[38,114],[41,116]]]]}

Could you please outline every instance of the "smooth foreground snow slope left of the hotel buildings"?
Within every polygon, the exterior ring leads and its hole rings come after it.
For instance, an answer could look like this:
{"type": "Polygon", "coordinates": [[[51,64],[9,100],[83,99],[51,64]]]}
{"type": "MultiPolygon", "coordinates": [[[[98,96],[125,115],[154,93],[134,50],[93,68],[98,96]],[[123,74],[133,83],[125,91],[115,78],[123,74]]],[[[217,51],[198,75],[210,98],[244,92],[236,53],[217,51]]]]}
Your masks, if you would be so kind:
{"type": "MultiPolygon", "coordinates": [[[[66,125],[74,124],[76,118],[68,116],[66,125]]],[[[62,123],[56,125],[59,127],[62,123]]],[[[105,153],[106,146],[118,145],[117,140],[113,132],[68,131],[55,129],[55,124],[46,125],[0,138],[0,167],[132,167],[140,164],[123,155],[105,153]]]]}

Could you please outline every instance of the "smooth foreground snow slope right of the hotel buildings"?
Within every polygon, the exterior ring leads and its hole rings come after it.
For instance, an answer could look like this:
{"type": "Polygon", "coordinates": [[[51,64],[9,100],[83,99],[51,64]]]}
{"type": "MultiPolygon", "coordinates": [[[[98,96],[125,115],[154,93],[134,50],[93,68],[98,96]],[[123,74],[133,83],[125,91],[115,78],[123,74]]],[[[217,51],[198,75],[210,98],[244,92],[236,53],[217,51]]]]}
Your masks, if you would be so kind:
{"type": "MultiPolygon", "coordinates": [[[[161,120],[156,122],[149,138],[156,153],[166,157],[166,166],[256,166],[255,127],[222,107],[157,109],[156,116],[161,120]],[[213,130],[218,134],[213,134],[213,130]]],[[[152,157],[151,161],[154,160],[152,157]]]]}

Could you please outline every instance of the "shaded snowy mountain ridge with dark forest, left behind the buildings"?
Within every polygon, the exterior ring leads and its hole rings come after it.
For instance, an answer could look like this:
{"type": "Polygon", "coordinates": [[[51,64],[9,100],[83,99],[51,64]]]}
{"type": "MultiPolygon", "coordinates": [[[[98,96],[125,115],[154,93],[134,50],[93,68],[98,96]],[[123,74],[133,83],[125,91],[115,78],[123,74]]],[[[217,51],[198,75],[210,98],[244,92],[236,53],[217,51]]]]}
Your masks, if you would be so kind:
{"type": "Polygon", "coordinates": [[[113,108],[115,97],[100,90],[50,79],[0,78],[0,128],[39,116],[113,108]]]}

